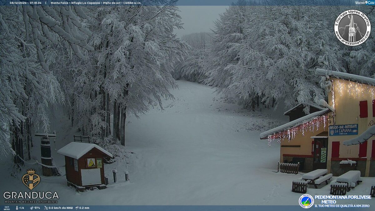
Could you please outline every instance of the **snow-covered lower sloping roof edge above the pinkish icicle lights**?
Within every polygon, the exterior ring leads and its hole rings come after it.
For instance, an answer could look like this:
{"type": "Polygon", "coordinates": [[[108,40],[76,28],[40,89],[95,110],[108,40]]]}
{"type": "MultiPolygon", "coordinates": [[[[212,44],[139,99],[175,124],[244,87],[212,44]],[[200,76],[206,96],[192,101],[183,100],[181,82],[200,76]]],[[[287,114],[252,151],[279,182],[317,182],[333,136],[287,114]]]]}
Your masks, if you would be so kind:
{"type": "Polygon", "coordinates": [[[282,131],[288,130],[288,129],[293,128],[293,127],[296,127],[300,124],[311,121],[312,119],[314,119],[317,116],[323,116],[323,115],[325,115],[329,112],[331,112],[331,110],[324,109],[324,110],[321,110],[321,111],[314,112],[314,113],[311,113],[309,115],[303,116],[299,119],[288,122],[287,124],[281,125],[279,127],[276,127],[276,128],[273,128],[271,130],[267,130],[266,132],[261,133],[260,138],[266,139],[269,135],[273,135],[275,133],[280,133],[282,131]]]}

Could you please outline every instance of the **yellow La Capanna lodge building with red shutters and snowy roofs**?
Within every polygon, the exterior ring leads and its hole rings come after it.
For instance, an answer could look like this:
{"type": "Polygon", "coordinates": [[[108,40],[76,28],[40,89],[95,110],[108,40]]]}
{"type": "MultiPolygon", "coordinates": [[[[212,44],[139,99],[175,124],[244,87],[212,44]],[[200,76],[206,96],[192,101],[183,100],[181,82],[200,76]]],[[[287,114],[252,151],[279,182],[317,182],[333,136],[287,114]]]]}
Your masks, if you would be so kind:
{"type": "Polygon", "coordinates": [[[261,139],[280,143],[280,162],[300,162],[303,172],[328,169],[333,176],[359,170],[375,176],[375,137],[357,145],[345,140],[375,125],[375,79],[317,69],[326,84],[328,102],[299,104],[284,113],[290,122],[260,134],[261,139]],[[328,104],[328,105],[327,105],[328,104]],[[322,106],[325,105],[325,106],[322,106]],[[355,162],[354,162],[355,161],[355,162]]]}

